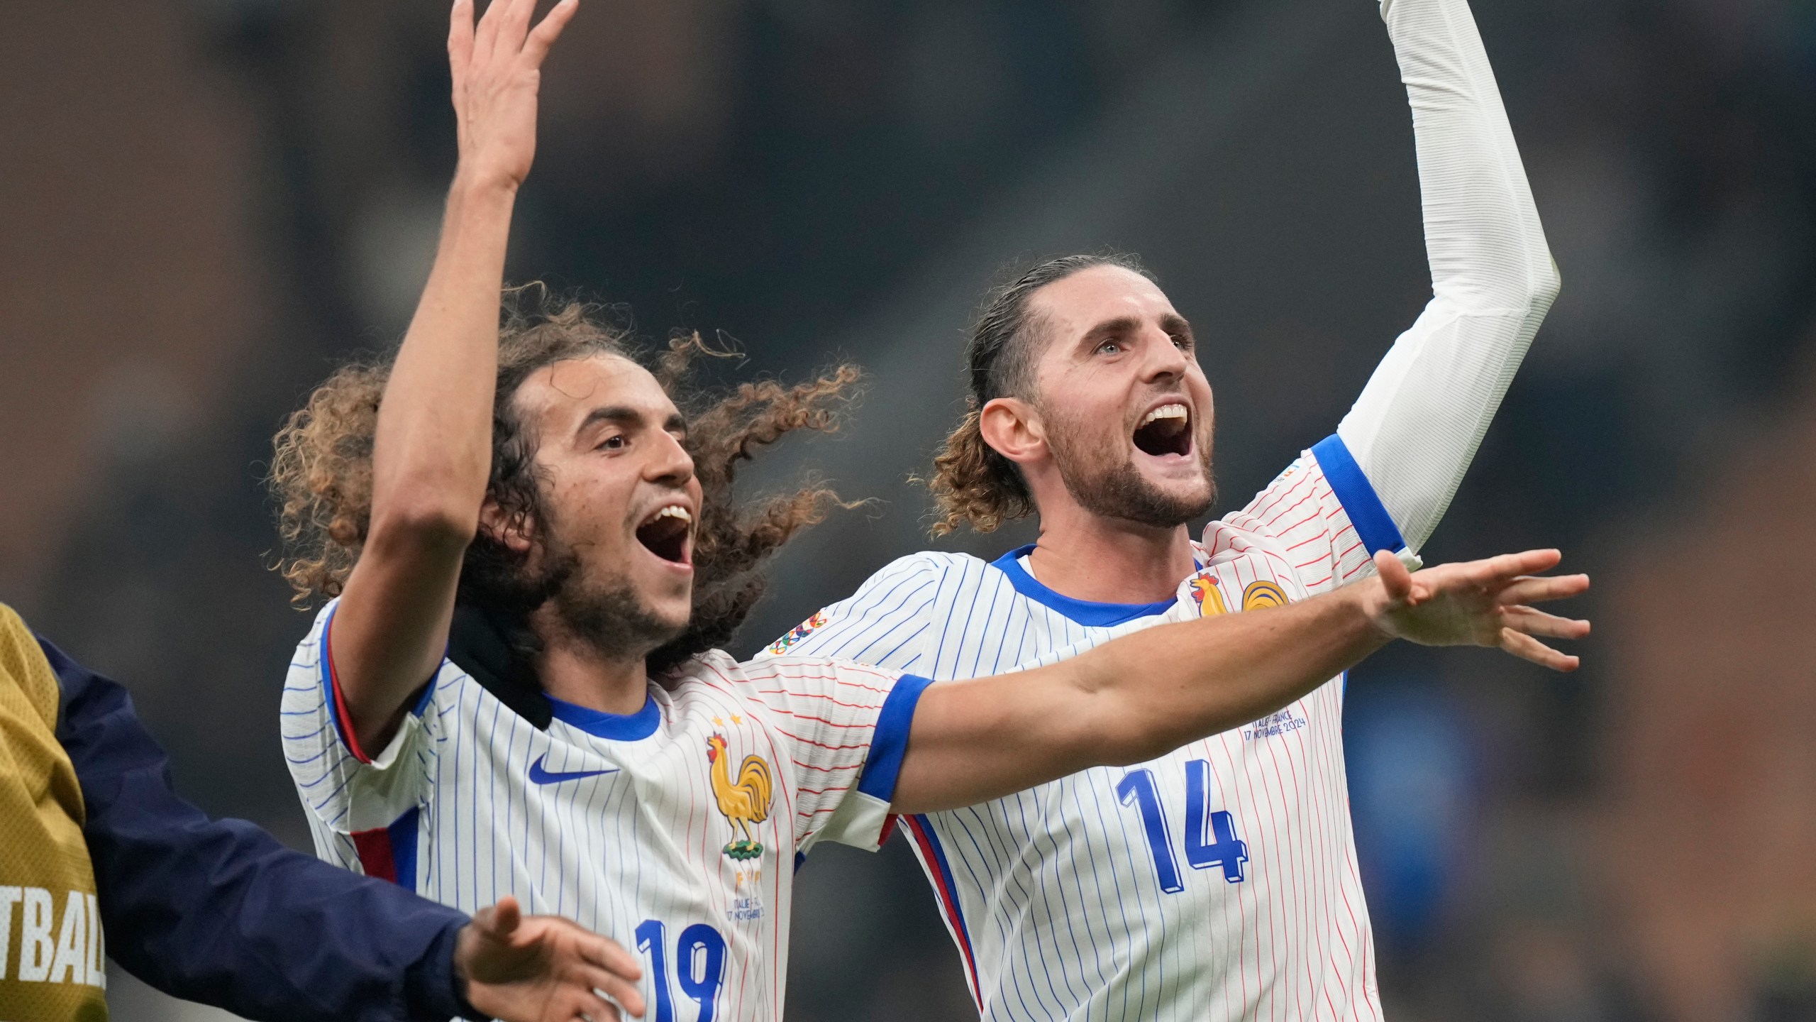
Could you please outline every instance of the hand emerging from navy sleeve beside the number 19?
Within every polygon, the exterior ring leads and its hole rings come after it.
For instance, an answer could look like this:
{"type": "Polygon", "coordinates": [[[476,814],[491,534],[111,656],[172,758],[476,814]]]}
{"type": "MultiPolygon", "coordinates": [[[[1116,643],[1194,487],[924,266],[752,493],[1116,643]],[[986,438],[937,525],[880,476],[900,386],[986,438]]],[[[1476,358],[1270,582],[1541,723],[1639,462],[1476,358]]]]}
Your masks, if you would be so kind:
{"type": "Polygon", "coordinates": [[[454,967],[467,1002],[503,1022],[619,1020],[643,1017],[628,951],[554,915],[525,917],[516,898],[479,909],[459,931],[454,967]],[[610,998],[610,1000],[608,1000],[610,998]]]}

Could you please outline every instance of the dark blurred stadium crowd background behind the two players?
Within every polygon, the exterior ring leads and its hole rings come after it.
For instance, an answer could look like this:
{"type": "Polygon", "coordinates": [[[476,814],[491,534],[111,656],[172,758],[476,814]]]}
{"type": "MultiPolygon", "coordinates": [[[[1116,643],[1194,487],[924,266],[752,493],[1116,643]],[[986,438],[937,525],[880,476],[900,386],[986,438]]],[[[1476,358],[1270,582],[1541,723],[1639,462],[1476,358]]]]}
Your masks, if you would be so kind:
{"type": "MultiPolygon", "coordinates": [[[[1598,638],[1567,678],[1420,649],[1355,673],[1384,998],[1406,1022],[1816,1018],[1816,5],[1475,9],[1565,287],[1427,558],[1560,546],[1598,576],[1598,638]]],[[[585,0],[510,276],[650,338],[723,331],[746,371],[873,371],[850,436],[781,460],[877,502],[799,540],[739,653],[930,542],[906,476],[1015,256],[1148,258],[1208,340],[1240,506],[1426,298],[1371,18],[585,0]]],[[[409,318],[454,153],[445,7],[7,20],[0,596],[133,686],[191,797],[307,844],[276,738],[307,618],[265,571],[258,476],[331,362],[409,318]]],[[[819,853],[801,898],[792,1018],[966,1017],[904,847],[819,853]]]]}

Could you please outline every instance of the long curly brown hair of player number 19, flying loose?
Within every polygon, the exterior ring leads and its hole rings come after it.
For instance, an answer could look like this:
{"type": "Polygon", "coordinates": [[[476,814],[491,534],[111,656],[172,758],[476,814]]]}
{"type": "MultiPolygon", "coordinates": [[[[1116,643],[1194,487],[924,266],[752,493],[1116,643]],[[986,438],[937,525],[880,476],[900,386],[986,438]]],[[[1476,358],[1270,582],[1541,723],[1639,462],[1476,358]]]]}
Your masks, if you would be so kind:
{"type": "MultiPolygon", "coordinates": [[[[505,293],[498,336],[498,389],[492,404],[492,473],[487,496],[507,520],[545,515],[534,431],[512,400],[538,369],[570,358],[617,355],[645,364],[688,416],[686,449],[699,476],[701,507],[694,536],[694,613],[686,631],[648,656],[652,673],[730,640],[763,596],[766,560],[797,531],[817,524],[839,496],[812,480],[792,493],[734,500],[739,462],[795,429],[832,433],[855,396],[859,369],[837,369],[797,386],[774,380],[730,391],[694,386],[701,356],[734,353],[710,347],[697,333],[677,335],[648,353],[627,331],[599,324],[596,306],[559,300],[541,286],[505,293]]],[[[276,569],[307,607],[341,593],[372,518],[372,433],[390,376],[390,358],[352,360],[291,413],[274,438],[267,486],[278,504],[283,553],[276,569]]],[[[523,555],[481,529],[461,564],[458,602],[505,622],[514,646],[534,651],[528,615],[559,586],[559,576],[527,578],[523,555]]]]}

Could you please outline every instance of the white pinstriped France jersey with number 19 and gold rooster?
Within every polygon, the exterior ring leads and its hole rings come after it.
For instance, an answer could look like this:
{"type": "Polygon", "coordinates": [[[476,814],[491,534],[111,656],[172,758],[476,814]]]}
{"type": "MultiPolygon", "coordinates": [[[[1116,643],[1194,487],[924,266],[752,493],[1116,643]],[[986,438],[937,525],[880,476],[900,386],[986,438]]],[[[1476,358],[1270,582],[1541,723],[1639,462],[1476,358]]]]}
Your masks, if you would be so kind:
{"type": "Polygon", "coordinates": [[[639,713],[550,700],[539,731],[443,660],[367,758],[325,655],[336,606],[296,651],[281,718],[321,858],[610,937],[641,953],[652,1022],[783,1017],[797,855],[877,844],[923,678],[710,653],[639,713]]]}

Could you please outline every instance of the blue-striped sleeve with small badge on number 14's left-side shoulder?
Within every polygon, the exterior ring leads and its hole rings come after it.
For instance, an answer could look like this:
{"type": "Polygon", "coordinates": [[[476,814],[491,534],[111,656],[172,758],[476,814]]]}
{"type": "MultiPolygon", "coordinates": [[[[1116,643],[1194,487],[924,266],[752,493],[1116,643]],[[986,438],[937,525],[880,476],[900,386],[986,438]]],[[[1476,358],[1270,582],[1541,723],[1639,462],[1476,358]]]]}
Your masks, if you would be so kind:
{"type": "Polygon", "coordinates": [[[921,649],[939,593],[941,564],[928,555],[890,562],[848,598],[832,604],[757,655],[857,660],[893,671],[924,669],[921,649]]]}

